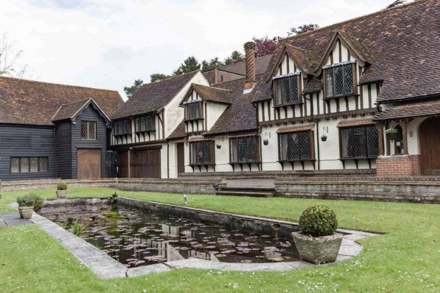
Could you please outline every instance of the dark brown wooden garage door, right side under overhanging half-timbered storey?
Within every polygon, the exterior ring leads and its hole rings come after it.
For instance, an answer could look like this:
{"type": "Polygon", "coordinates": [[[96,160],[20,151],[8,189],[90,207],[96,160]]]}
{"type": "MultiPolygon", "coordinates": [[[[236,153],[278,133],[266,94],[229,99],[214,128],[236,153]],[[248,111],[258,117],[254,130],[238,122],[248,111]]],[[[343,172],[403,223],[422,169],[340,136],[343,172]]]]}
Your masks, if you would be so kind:
{"type": "Polygon", "coordinates": [[[160,178],[160,148],[133,151],[131,177],[160,178]]]}

